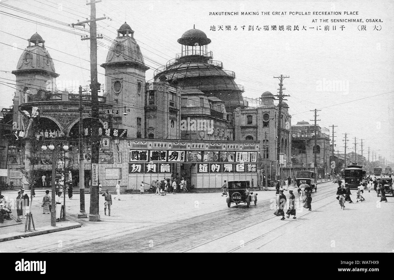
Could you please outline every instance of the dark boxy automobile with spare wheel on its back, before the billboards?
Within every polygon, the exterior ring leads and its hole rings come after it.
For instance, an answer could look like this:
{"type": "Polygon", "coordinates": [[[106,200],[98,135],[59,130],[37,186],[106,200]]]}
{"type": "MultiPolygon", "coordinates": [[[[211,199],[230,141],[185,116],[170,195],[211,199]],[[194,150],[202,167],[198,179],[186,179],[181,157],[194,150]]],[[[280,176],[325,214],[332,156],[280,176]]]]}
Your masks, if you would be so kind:
{"type": "Polygon", "coordinates": [[[227,190],[229,197],[227,197],[227,206],[230,207],[231,203],[246,203],[249,207],[251,202],[257,204],[257,193],[250,190],[249,180],[228,181],[227,190]]]}

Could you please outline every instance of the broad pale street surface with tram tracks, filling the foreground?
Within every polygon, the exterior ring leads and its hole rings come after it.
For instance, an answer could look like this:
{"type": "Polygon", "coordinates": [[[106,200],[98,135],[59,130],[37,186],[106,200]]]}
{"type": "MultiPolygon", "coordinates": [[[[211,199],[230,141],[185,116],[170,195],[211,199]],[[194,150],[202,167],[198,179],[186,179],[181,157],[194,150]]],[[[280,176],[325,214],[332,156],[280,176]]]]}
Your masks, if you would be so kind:
{"type": "MultiPolygon", "coordinates": [[[[259,191],[257,206],[232,205],[230,209],[219,193],[122,195],[121,201],[113,202],[111,217],[104,216],[100,209],[101,222],[85,219],[82,228],[3,242],[0,250],[391,252],[394,199],[388,196],[387,203],[379,203],[376,193],[367,191],[365,202],[346,203],[343,211],[335,199],[336,187],[332,183],[320,184],[312,195],[312,211],[301,207],[296,220],[285,221],[273,215],[273,191],[259,191]],[[375,232],[381,238],[373,238],[375,232]]],[[[355,190],[352,193],[355,201],[355,190]]],[[[285,194],[288,196],[288,192],[285,194]]],[[[76,215],[78,196],[67,198],[67,206],[71,216],[76,215]]]]}

